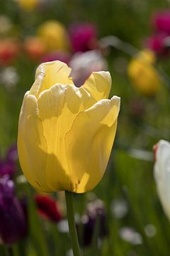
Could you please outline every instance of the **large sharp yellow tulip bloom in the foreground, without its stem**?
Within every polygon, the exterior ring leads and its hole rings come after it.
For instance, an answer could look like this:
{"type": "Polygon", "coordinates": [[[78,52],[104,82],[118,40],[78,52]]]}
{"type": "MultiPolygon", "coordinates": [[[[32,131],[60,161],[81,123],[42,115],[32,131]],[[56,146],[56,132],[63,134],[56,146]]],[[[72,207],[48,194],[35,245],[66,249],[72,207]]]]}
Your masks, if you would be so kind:
{"type": "Polygon", "coordinates": [[[92,73],[81,87],[65,63],[42,63],[23,99],[18,156],[38,191],[89,191],[101,180],[115,137],[120,98],[108,100],[111,75],[92,73]]]}

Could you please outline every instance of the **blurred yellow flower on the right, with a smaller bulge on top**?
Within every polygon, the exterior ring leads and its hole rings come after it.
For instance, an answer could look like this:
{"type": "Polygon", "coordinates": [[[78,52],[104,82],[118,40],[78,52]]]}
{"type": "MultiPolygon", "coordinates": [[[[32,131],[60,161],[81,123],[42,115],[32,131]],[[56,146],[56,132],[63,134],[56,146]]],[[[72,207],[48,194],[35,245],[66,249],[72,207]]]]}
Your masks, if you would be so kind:
{"type": "Polygon", "coordinates": [[[160,89],[161,80],[154,68],[155,55],[151,50],[143,50],[130,61],[128,75],[134,86],[144,95],[155,95],[160,89]]]}

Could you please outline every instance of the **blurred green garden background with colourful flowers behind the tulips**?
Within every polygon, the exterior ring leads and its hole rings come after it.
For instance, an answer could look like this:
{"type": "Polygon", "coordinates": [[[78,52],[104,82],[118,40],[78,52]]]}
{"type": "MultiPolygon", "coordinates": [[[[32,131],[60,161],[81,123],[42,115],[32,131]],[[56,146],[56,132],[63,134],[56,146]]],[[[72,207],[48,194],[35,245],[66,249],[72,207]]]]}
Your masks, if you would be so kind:
{"type": "Polygon", "coordinates": [[[74,196],[84,255],[169,255],[153,146],[170,139],[170,1],[0,2],[0,255],[72,255],[64,195],[30,188],[16,149],[23,95],[52,60],[72,68],[77,86],[109,70],[110,97],[121,97],[106,174],[74,196]]]}

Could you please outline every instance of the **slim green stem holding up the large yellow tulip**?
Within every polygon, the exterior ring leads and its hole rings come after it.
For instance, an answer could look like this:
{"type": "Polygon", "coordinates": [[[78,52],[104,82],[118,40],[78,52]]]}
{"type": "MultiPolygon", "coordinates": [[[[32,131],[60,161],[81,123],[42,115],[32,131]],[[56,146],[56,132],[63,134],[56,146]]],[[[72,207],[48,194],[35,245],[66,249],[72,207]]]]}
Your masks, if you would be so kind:
{"type": "Polygon", "coordinates": [[[65,191],[66,205],[67,205],[67,218],[69,223],[69,235],[72,242],[72,250],[74,256],[81,256],[79,249],[79,241],[77,237],[77,230],[74,221],[74,208],[72,192],[65,191]]]}

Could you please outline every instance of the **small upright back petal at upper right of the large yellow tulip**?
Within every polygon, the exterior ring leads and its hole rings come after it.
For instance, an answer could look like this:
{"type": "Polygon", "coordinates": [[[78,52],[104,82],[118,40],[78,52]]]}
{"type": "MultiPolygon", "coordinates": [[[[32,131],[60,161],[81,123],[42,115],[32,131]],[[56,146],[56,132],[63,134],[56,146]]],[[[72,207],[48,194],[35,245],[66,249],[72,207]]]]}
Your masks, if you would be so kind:
{"type": "Polygon", "coordinates": [[[93,72],[84,83],[83,87],[94,97],[96,102],[107,99],[111,91],[111,75],[106,71],[93,72]]]}

